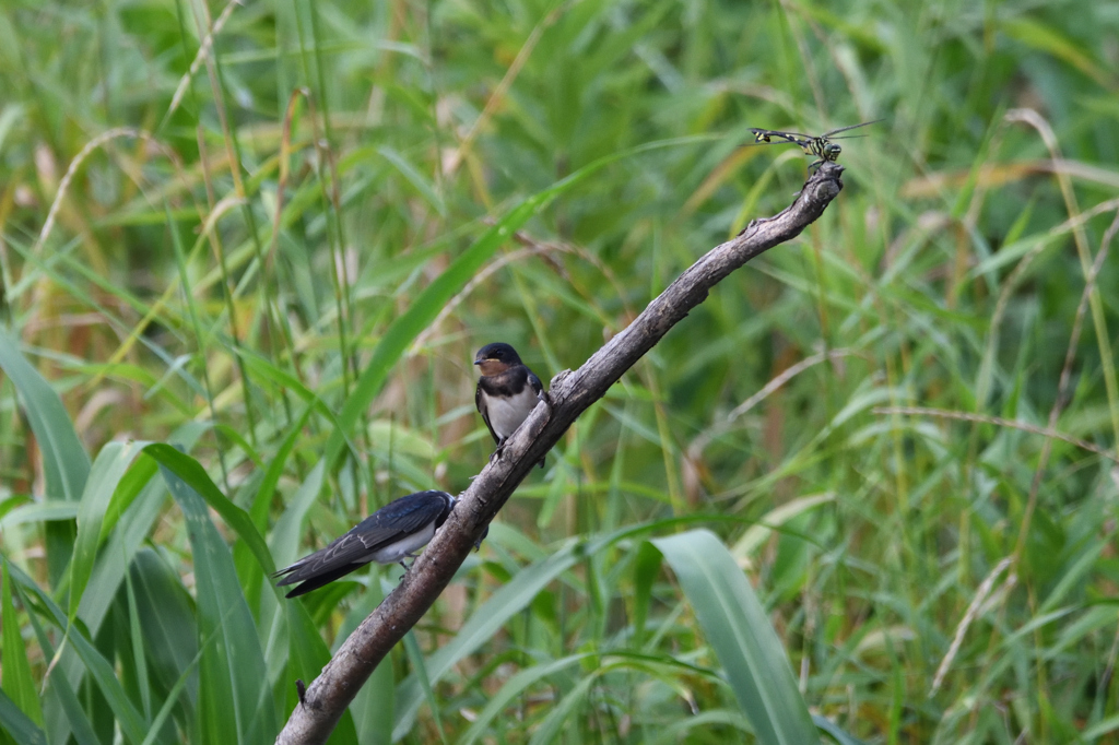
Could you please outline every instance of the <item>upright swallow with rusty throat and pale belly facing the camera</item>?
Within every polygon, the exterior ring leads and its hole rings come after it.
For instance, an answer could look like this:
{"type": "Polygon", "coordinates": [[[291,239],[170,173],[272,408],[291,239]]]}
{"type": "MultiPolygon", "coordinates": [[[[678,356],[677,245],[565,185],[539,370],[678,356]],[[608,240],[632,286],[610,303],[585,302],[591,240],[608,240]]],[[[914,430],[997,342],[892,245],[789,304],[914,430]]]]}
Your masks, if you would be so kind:
{"type": "MultiPolygon", "coordinates": [[[[474,365],[482,374],[474,389],[474,406],[493,435],[497,443],[493,455],[498,455],[505,441],[536,408],[536,402],[543,400],[551,406],[552,400],[540,379],[520,361],[517,350],[509,345],[486,345],[474,356],[474,365]]],[[[540,468],[544,468],[543,458],[540,468]]]]}

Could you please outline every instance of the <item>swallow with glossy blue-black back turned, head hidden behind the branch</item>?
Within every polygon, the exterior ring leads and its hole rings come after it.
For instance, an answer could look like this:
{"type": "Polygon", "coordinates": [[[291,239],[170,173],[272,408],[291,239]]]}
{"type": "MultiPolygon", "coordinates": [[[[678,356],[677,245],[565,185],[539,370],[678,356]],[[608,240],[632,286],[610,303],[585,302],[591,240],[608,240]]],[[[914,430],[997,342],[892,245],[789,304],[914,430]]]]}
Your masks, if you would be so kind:
{"type": "MultiPolygon", "coordinates": [[[[361,520],[322,550],[299,559],[272,576],[283,576],[276,583],[278,587],[303,583],[288,593],[288,597],[298,597],[344,577],[369,562],[399,562],[406,569],[404,558],[415,558],[414,551],[427,545],[435,536],[435,530],[451,513],[455,501],[445,491],[434,490],[401,497],[361,520]]],[[[489,527],[474,544],[476,549],[481,546],[488,532],[489,527]]]]}

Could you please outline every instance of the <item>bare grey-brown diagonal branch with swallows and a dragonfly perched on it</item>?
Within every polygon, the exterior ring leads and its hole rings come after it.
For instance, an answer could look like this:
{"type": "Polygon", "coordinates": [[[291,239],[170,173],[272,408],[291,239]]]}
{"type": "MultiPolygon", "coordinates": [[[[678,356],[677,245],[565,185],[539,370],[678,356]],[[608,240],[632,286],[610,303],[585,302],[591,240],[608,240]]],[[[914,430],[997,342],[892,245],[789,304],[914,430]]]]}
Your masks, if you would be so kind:
{"type": "Polygon", "coordinates": [[[389,650],[404,638],[473,547],[474,538],[567,427],[731,272],[815,221],[839,194],[843,167],[820,166],[787,209],[752,221],[737,236],[709,251],[658,295],[624,330],[574,372],[552,379],[552,407],[537,405],[506,443],[500,459],[486,465],[461,496],[443,528],[388,597],[361,622],[322,673],[307,689],[278,744],[325,743],[358,689],[389,650]]]}

